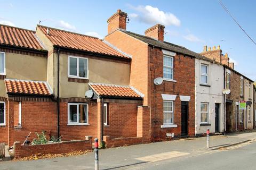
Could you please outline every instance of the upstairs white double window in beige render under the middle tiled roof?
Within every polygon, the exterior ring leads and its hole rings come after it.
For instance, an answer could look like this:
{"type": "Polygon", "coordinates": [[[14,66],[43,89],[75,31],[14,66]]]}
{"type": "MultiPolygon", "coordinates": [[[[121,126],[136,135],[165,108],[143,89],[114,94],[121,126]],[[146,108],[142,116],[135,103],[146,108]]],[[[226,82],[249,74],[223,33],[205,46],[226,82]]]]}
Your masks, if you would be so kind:
{"type": "Polygon", "coordinates": [[[88,79],[88,74],[87,58],[68,56],[68,77],[88,79]]]}

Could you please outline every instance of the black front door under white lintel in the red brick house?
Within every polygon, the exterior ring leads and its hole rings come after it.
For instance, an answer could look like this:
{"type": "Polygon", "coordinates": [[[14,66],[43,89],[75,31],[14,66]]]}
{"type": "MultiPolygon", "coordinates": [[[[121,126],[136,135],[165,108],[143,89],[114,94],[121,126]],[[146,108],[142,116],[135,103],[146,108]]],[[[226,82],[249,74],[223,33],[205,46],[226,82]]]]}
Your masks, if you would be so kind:
{"type": "Polygon", "coordinates": [[[188,135],[188,102],[181,101],[181,135],[188,135]]]}

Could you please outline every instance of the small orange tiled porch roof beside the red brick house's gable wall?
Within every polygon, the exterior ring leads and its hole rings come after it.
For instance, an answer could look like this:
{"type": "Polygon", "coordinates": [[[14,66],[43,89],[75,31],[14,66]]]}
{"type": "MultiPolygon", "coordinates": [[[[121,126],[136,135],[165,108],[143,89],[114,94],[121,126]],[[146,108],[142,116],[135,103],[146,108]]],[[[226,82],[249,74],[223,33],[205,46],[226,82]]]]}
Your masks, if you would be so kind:
{"type": "Polygon", "coordinates": [[[89,86],[99,96],[134,97],[142,98],[143,95],[131,86],[119,86],[115,84],[89,83],[89,86]]]}

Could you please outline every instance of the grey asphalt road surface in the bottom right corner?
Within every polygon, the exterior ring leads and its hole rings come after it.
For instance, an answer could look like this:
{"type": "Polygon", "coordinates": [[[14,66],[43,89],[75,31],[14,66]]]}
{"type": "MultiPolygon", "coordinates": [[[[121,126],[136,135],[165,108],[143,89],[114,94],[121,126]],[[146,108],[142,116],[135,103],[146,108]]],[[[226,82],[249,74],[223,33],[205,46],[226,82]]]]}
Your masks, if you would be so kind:
{"type": "Polygon", "coordinates": [[[256,169],[256,142],[206,152],[199,155],[165,159],[125,169],[256,169]]]}

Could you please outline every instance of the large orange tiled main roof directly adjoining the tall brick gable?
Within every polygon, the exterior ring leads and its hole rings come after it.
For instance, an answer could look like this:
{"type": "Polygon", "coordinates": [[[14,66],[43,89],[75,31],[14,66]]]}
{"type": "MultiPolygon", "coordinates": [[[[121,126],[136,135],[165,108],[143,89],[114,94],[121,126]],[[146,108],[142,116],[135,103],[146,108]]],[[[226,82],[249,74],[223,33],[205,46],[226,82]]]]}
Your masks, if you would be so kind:
{"type": "Polygon", "coordinates": [[[45,27],[42,25],[38,25],[38,28],[42,30],[52,44],[56,46],[129,58],[96,37],[45,27]],[[47,34],[47,28],[49,29],[49,34],[47,34]]]}

